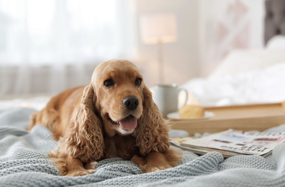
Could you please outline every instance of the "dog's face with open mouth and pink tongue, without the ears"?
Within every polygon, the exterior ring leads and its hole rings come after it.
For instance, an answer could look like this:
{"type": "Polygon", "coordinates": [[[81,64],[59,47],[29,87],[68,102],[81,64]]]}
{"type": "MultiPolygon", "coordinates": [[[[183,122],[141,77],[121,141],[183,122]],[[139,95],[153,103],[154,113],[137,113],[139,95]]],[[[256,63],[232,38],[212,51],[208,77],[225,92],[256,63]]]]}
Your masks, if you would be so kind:
{"type": "Polygon", "coordinates": [[[99,64],[92,76],[94,104],[108,137],[132,133],[143,112],[143,77],[127,60],[99,64]]]}

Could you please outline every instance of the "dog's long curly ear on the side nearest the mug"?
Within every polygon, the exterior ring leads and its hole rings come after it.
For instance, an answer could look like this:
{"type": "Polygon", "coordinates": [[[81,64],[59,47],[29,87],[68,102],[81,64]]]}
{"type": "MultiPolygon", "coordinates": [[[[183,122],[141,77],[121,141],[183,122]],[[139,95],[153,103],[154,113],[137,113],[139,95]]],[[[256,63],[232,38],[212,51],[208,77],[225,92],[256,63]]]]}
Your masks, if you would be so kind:
{"type": "Polygon", "coordinates": [[[150,151],[164,153],[168,150],[169,133],[168,124],[162,118],[161,112],[152,99],[152,93],[143,85],[143,114],[138,120],[136,130],[136,145],[140,148],[141,155],[147,155],[150,151]]]}

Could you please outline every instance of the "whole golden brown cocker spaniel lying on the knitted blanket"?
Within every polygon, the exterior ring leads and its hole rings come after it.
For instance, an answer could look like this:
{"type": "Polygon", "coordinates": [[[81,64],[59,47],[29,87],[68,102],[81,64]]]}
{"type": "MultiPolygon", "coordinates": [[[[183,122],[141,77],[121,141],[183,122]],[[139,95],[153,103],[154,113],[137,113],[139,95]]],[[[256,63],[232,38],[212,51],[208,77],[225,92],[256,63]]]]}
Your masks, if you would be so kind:
{"type": "Polygon", "coordinates": [[[138,68],[127,60],[99,64],[91,83],[54,96],[29,124],[49,128],[60,140],[49,153],[61,175],[94,172],[96,161],[131,159],[143,172],[178,165],[181,152],[170,148],[169,126],[138,68]]]}

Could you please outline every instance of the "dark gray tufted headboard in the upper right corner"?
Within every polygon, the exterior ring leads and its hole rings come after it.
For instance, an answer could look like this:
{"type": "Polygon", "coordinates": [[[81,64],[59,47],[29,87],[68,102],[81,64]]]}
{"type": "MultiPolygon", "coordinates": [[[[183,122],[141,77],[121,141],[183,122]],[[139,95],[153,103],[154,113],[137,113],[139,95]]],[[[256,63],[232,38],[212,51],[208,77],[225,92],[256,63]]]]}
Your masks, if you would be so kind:
{"type": "Polygon", "coordinates": [[[266,0],[265,9],[264,40],[266,44],[272,36],[285,35],[285,0],[266,0]]]}

